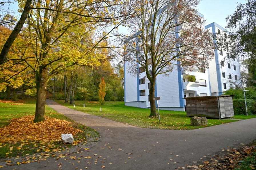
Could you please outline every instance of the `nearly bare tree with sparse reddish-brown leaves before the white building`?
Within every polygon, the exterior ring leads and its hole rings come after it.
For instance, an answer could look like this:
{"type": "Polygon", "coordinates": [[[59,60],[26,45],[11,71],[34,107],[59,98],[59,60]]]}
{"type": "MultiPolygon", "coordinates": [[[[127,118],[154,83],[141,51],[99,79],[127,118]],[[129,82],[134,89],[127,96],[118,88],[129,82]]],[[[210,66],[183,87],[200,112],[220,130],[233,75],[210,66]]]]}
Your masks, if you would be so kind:
{"type": "MultiPolygon", "coordinates": [[[[149,89],[150,116],[157,117],[155,82],[174,70],[207,68],[213,58],[212,36],[196,10],[199,0],[136,0],[137,15],[131,18],[131,36],[122,39],[125,66],[132,75],[145,77],[149,89]]],[[[170,87],[171,88],[171,87],[170,87]]]]}

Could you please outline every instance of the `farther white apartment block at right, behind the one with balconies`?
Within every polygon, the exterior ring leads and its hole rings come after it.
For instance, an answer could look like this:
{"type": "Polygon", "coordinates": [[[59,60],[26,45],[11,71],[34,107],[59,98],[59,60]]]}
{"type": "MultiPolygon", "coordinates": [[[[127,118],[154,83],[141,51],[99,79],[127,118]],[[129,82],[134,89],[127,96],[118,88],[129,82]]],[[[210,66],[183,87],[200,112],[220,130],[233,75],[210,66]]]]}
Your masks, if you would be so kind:
{"type": "MultiPolygon", "coordinates": [[[[216,23],[205,26],[205,29],[215,34],[223,34],[228,38],[228,31],[216,23]]],[[[214,41],[216,43],[216,40],[214,41]]],[[[215,57],[210,61],[209,77],[211,95],[218,96],[241,82],[241,72],[239,60],[230,58],[227,51],[215,50],[214,53],[215,57]]]]}

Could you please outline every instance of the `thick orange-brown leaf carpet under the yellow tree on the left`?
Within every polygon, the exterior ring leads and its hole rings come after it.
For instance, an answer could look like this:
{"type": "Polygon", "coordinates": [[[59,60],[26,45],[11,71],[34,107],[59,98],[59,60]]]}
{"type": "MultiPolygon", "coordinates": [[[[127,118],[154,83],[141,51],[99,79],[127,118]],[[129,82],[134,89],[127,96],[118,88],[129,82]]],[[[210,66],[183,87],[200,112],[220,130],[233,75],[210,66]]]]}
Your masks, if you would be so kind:
{"type": "Polygon", "coordinates": [[[0,143],[8,141],[60,141],[61,134],[83,132],[80,129],[73,128],[70,122],[66,120],[59,120],[55,118],[46,117],[46,120],[39,123],[33,123],[34,116],[24,116],[11,120],[11,123],[0,128],[0,143]]]}

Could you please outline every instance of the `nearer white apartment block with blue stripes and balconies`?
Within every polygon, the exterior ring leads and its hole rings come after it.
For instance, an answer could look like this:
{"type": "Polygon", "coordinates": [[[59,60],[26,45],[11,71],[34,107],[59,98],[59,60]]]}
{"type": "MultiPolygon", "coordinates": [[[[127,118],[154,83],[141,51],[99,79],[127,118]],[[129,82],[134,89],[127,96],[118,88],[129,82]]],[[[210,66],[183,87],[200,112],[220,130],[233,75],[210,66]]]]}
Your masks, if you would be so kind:
{"type": "MultiPolygon", "coordinates": [[[[201,15],[201,14],[200,14],[201,15]]],[[[203,17],[203,15],[201,15],[203,17]]],[[[138,44],[138,43],[136,43],[138,44]]],[[[139,47],[137,45],[137,47],[139,47]]],[[[132,75],[128,69],[129,61],[124,63],[124,92],[125,105],[140,108],[150,108],[149,87],[150,83],[146,72],[141,71],[137,76],[132,75]]],[[[140,65],[137,63],[137,69],[140,65]]],[[[209,70],[194,68],[191,72],[182,69],[173,69],[169,76],[160,74],[156,78],[155,96],[160,97],[158,107],[162,110],[185,111],[184,97],[210,96],[211,85],[209,81],[209,70]],[[196,77],[196,82],[188,82],[189,75],[196,77]]]]}

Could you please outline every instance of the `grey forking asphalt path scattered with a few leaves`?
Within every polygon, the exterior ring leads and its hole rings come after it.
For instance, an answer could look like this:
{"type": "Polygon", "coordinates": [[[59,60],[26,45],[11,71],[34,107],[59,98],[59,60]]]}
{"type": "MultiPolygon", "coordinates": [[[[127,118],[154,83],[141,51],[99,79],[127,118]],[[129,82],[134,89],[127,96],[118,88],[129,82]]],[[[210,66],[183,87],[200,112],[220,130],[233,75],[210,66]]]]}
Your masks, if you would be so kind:
{"type": "Polygon", "coordinates": [[[61,158],[56,161],[56,158],[49,158],[40,163],[33,162],[3,169],[65,170],[77,167],[78,170],[84,170],[87,167],[89,170],[102,169],[103,165],[104,169],[121,170],[175,169],[185,167],[185,164],[193,165],[193,161],[199,161],[207,154],[212,156],[222,148],[228,149],[241,146],[241,143],[249,143],[256,137],[256,118],[194,130],[146,129],[75,111],[53,100],[47,100],[46,103],[72,120],[96,129],[101,135],[101,140],[89,152],[76,153],[77,157],[81,157],[80,160],[61,158]],[[91,158],[84,159],[87,156],[91,158]],[[97,165],[94,165],[97,158],[97,165]],[[89,161],[91,164],[88,164],[89,161]],[[102,163],[103,161],[105,163],[102,163]],[[61,167],[58,164],[61,164],[61,167]]]}

